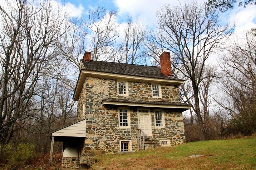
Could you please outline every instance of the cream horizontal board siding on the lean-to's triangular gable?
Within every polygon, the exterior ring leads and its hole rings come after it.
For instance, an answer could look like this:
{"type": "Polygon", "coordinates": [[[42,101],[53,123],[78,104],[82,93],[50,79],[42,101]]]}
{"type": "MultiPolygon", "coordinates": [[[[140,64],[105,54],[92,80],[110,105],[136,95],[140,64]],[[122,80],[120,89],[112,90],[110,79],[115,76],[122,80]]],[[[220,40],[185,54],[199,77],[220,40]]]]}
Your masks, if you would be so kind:
{"type": "Polygon", "coordinates": [[[64,127],[52,133],[52,136],[73,136],[85,137],[86,133],[86,120],[74,123],[70,126],[64,127]]]}

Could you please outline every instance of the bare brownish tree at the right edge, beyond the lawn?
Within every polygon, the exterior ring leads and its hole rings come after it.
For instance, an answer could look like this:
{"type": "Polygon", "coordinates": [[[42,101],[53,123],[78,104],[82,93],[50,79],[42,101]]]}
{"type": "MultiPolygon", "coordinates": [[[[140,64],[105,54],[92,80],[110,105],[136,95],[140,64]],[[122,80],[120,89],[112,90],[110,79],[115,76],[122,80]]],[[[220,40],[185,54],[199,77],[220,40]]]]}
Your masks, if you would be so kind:
{"type": "Polygon", "coordinates": [[[244,116],[255,126],[255,86],[256,86],[256,40],[246,33],[237,39],[224,53],[219,62],[222,73],[219,89],[224,98],[217,101],[220,106],[235,117],[244,116]],[[251,115],[248,117],[248,114],[251,115]]]}

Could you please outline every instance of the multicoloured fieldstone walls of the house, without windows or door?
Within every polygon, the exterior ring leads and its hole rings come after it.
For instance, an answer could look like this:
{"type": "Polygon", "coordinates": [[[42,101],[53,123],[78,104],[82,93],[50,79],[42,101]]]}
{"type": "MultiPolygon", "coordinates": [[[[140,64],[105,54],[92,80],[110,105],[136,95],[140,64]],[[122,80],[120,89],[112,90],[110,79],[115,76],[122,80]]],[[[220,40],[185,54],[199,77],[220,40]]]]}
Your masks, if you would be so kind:
{"type": "MultiPolygon", "coordinates": [[[[137,107],[130,110],[130,128],[118,127],[118,107],[103,107],[101,101],[106,98],[125,98],[136,100],[180,101],[178,86],[161,85],[162,98],[152,97],[151,83],[128,81],[128,96],[117,94],[117,80],[87,77],[78,99],[79,119],[86,121],[86,140],[83,153],[85,156],[95,154],[115,154],[119,152],[121,139],[132,141],[132,150],[137,149],[137,131],[139,127],[137,107]],[[82,115],[83,103],[86,114],[82,115]]],[[[127,107],[126,107],[127,108],[127,107]]],[[[182,113],[174,109],[164,109],[165,128],[155,127],[154,108],[150,108],[152,137],[169,139],[171,145],[185,142],[182,113]]]]}

